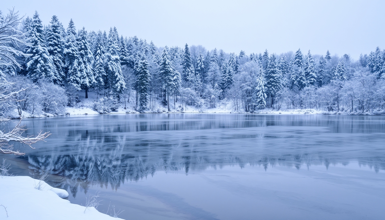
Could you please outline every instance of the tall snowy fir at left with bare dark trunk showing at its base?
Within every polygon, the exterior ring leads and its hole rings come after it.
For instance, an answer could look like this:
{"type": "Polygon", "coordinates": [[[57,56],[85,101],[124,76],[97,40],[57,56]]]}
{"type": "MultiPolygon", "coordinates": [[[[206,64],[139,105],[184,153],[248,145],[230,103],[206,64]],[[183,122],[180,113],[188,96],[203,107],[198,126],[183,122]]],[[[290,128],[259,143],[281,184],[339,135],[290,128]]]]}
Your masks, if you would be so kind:
{"type": "Polygon", "coordinates": [[[80,74],[80,88],[85,91],[85,98],[88,99],[88,89],[96,84],[94,71],[92,71],[92,64],[94,63],[94,56],[92,55],[90,45],[88,42],[87,31],[83,27],[79,31],[78,39],[78,56],[79,56],[79,74],[80,74]]]}

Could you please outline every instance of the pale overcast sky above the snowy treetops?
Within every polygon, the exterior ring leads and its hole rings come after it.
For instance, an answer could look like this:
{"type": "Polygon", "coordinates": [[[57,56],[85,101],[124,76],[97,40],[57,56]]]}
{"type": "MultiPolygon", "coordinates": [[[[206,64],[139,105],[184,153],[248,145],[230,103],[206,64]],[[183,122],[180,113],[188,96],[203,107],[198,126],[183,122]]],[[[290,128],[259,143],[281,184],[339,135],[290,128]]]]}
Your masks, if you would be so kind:
{"type": "Polygon", "coordinates": [[[385,1],[114,1],[2,0],[0,10],[15,7],[44,24],[57,15],[67,28],[108,30],[151,40],[158,47],[203,45],[225,52],[350,54],[358,59],[385,48],[385,1]]]}

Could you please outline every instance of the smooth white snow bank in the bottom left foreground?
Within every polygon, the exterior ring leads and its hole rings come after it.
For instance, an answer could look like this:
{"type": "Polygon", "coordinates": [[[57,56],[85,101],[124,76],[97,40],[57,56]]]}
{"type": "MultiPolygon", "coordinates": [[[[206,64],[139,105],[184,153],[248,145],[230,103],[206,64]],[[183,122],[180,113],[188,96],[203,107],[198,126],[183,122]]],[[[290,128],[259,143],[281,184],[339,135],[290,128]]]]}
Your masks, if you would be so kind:
{"type": "Polygon", "coordinates": [[[0,178],[0,219],[7,220],[104,220],[120,219],[62,199],[68,192],[29,176],[0,178]],[[35,189],[40,186],[41,190],[35,189]],[[61,197],[59,197],[59,196],[61,197]],[[84,212],[85,210],[85,212],[84,212]],[[8,217],[7,217],[8,214],[8,217]]]}

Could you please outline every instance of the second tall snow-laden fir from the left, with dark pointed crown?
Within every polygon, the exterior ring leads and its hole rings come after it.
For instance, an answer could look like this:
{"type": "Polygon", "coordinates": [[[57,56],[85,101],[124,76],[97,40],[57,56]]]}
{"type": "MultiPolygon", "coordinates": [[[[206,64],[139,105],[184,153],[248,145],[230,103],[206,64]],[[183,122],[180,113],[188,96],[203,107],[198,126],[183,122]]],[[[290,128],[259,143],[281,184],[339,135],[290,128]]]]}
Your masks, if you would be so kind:
{"type": "Polygon", "coordinates": [[[63,30],[64,27],[56,15],[52,16],[47,29],[47,50],[54,66],[53,82],[59,86],[64,86],[65,84],[63,30]]]}

